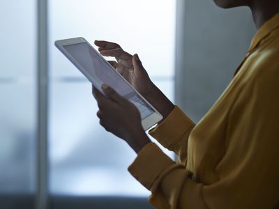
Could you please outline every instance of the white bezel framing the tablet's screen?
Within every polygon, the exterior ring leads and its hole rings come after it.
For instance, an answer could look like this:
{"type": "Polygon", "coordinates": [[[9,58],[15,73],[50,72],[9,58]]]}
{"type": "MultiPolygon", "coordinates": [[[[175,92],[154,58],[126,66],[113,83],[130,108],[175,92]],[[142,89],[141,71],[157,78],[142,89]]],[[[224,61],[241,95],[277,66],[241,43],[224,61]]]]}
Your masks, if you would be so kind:
{"type": "MultiPolygon", "coordinates": [[[[67,45],[76,45],[76,44],[80,44],[80,43],[84,43],[84,42],[86,44],[88,44],[96,52],[96,54],[98,54],[101,57],[101,59],[103,59],[103,61],[105,61],[105,63],[110,65],[110,63],[107,62],[107,60],[96,49],[94,49],[94,47],[92,47],[92,45],[88,41],[86,41],[85,38],[78,37],[78,38],[68,38],[68,39],[63,39],[63,40],[56,40],[54,42],[54,45],[62,52],[62,54],[64,54],[73,63],[73,65],[75,65],[75,67],[78,70],[80,70],[80,72],[82,72],[82,74],[89,80],[89,82],[91,82],[100,92],[103,93],[102,88],[100,88],[100,85],[96,84],[96,81],[93,80],[93,78],[90,76],[89,72],[87,72],[84,68],[82,68],[82,66],[75,60],[75,58],[73,58],[73,56],[71,56],[64,48],[64,46],[67,46],[67,45]]],[[[112,68],[112,70],[114,72],[116,72],[123,79],[124,82],[126,82],[131,88],[133,88],[133,86],[129,82],[127,82],[126,79],[112,67],[112,65],[110,65],[110,67],[112,68]]],[[[150,127],[152,127],[153,125],[155,125],[156,123],[161,121],[163,119],[163,116],[135,88],[133,88],[133,90],[154,111],[153,114],[151,114],[150,116],[146,116],[146,118],[142,119],[142,127],[144,128],[144,130],[149,130],[150,127]]]]}

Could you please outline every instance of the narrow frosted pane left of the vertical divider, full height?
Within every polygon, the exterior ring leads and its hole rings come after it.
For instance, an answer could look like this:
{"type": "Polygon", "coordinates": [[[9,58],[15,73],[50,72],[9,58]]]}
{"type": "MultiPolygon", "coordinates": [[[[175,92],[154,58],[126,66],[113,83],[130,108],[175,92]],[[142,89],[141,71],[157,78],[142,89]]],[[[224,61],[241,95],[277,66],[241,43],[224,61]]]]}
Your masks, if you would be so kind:
{"type": "Polygon", "coordinates": [[[1,1],[0,19],[0,196],[13,208],[35,192],[36,1],[1,1]]]}

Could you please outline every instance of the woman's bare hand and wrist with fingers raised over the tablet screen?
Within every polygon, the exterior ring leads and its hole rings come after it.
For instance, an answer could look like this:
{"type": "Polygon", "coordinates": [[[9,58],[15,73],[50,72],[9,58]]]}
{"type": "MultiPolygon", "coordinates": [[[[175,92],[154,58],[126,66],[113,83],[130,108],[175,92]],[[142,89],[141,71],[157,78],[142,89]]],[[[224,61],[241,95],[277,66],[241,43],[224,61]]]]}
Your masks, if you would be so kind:
{"type": "Polygon", "coordinates": [[[109,61],[110,64],[166,118],[174,109],[174,104],[151,82],[139,56],[123,51],[120,45],[114,42],[95,40],[94,43],[100,54],[116,59],[117,62],[109,61]]]}

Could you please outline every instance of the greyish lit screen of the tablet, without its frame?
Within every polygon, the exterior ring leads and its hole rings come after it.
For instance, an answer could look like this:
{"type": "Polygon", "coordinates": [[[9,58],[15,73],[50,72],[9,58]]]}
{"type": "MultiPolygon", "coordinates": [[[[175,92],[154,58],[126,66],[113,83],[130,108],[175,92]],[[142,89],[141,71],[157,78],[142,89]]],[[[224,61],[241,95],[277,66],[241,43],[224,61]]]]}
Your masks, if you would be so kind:
{"type": "Polygon", "coordinates": [[[64,49],[86,70],[96,84],[107,84],[114,88],[117,93],[133,102],[140,111],[141,118],[144,119],[154,113],[153,109],[147,104],[137,92],[134,91],[123,78],[118,75],[112,67],[106,63],[95,50],[86,42],[66,45],[64,49]]]}

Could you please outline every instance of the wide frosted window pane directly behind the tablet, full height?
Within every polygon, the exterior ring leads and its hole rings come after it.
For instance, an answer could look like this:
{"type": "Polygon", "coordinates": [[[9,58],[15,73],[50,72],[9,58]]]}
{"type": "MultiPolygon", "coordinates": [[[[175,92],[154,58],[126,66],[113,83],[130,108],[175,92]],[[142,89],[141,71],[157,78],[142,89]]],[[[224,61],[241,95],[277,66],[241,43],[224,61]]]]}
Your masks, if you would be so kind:
{"type": "Polygon", "coordinates": [[[54,47],[54,40],[83,36],[91,43],[119,42],[140,55],[153,82],[173,100],[175,1],[50,0],[49,6],[50,191],[148,195],[127,171],[135,153],[99,125],[91,85],[54,47]]]}

